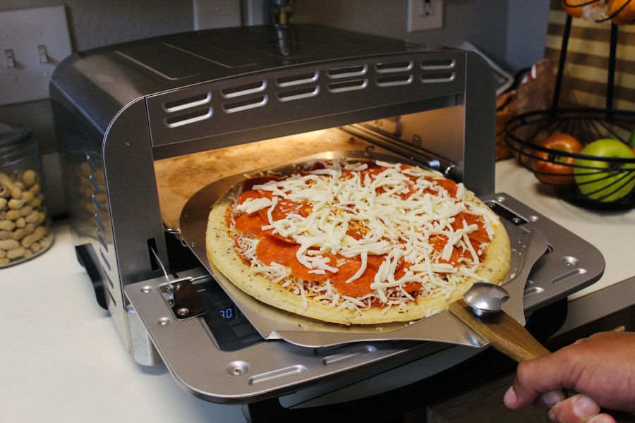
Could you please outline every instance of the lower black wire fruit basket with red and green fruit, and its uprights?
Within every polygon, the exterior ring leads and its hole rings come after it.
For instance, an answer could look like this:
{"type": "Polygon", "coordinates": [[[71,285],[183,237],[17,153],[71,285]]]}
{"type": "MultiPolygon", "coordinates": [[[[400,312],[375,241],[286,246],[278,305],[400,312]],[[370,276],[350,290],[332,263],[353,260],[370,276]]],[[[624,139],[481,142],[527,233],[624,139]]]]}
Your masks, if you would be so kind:
{"type": "Polygon", "coordinates": [[[541,183],[551,185],[564,200],[587,209],[632,209],[635,207],[633,154],[627,152],[624,158],[615,157],[615,154],[600,157],[540,145],[552,135],[565,134],[576,138],[582,146],[595,140],[619,140],[624,144],[621,149],[628,150],[629,142],[635,137],[635,111],[612,108],[617,46],[615,23],[611,25],[610,34],[606,108],[558,107],[570,30],[571,16],[568,15],[562,35],[552,108],[530,111],[509,119],[505,125],[505,142],[523,166],[532,171],[541,183]]]}

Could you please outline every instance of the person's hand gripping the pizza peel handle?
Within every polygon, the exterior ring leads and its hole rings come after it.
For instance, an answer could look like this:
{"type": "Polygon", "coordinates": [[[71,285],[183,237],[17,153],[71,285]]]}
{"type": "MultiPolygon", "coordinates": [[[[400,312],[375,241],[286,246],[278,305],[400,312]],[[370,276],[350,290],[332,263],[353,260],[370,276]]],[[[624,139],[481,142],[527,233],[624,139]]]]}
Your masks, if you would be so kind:
{"type": "Polygon", "coordinates": [[[534,403],[558,423],[615,422],[601,408],[635,412],[635,333],[596,333],[519,364],[504,403],[534,403]],[[579,395],[567,398],[565,389],[579,395]]]}

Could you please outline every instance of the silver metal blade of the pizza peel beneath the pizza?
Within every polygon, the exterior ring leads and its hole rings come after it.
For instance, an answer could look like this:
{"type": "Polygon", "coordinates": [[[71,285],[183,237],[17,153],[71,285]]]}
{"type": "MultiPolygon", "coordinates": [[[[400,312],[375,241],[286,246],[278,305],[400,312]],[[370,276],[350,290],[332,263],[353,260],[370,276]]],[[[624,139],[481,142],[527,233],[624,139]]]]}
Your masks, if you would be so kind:
{"type": "MultiPolygon", "coordinates": [[[[342,155],[342,157],[345,156],[342,155]]],[[[212,204],[228,187],[242,178],[244,178],[243,175],[236,175],[218,180],[193,195],[181,212],[180,231],[186,244],[218,281],[219,286],[229,295],[229,298],[241,309],[262,338],[284,340],[310,348],[362,341],[433,341],[473,347],[488,345],[488,341],[483,336],[448,310],[418,321],[343,326],[285,312],[244,293],[207,259],[205,250],[207,214],[212,204]]],[[[533,265],[547,250],[547,242],[545,237],[535,229],[527,231],[507,219],[502,219],[502,223],[510,238],[512,263],[502,281],[510,298],[502,304],[501,308],[522,327],[525,324],[523,305],[525,283],[533,265]],[[536,253],[527,254],[529,251],[536,253]]]]}

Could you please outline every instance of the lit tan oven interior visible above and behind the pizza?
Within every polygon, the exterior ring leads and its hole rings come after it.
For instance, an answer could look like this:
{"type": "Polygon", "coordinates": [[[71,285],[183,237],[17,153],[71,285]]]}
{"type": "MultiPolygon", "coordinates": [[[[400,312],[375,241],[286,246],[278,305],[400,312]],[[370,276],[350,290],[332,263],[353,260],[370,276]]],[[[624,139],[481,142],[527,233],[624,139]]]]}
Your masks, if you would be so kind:
{"type": "Polygon", "coordinates": [[[178,232],[183,205],[206,185],[318,154],[385,154],[461,180],[464,127],[458,105],[155,160],[162,220],[178,232]]]}

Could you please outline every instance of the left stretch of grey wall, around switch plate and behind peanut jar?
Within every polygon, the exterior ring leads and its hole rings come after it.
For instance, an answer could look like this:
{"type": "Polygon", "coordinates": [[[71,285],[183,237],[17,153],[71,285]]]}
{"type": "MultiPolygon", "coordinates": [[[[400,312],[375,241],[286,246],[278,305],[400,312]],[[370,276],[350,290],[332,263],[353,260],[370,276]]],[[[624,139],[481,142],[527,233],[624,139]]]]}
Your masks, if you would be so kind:
{"type": "MultiPolygon", "coordinates": [[[[193,30],[191,0],[1,0],[0,11],[59,4],[66,6],[73,51],[193,30]]],[[[42,153],[47,206],[54,216],[62,215],[66,207],[50,102],[0,106],[0,122],[23,123],[33,129],[42,153]]]]}

